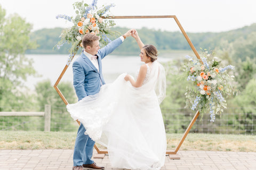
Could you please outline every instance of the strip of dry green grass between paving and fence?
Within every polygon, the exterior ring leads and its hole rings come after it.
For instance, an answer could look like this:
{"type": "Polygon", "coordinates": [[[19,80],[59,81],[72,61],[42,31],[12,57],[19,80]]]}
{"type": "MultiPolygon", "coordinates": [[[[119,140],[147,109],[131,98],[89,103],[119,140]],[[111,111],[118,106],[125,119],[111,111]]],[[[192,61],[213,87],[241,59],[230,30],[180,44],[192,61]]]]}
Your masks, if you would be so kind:
{"type": "MultiPolygon", "coordinates": [[[[167,134],[167,149],[174,150],[182,135],[167,134]]],[[[75,139],[76,132],[1,131],[0,149],[74,149],[75,139]]],[[[189,133],[180,150],[256,152],[256,136],[189,133]]]]}

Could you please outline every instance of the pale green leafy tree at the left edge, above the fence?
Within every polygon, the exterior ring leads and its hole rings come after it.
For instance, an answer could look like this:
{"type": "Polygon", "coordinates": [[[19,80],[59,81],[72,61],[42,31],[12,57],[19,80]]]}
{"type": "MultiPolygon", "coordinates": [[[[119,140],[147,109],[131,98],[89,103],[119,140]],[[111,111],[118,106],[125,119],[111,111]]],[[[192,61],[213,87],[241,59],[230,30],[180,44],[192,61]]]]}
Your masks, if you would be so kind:
{"type": "Polygon", "coordinates": [[[36,47],[29,39],[31,29],[18,14],[5,17],[0,5],[0,106],[26,104],[19,100],[25,96],[19,89],[28,75],[35,74],[32,61],[25,57],[27,49],[36,47]]]}

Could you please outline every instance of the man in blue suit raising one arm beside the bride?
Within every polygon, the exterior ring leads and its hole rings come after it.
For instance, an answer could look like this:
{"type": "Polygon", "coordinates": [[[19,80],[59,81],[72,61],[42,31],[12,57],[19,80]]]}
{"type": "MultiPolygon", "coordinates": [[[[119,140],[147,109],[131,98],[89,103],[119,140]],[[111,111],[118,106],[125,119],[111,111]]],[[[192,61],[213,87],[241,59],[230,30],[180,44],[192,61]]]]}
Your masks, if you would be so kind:
{"type": "MultiPolygon", "coordinates": [[[[131,35],[132,30],[129,30],[123,36],[111,41],[111,43],[102,49],[100,49],[99,46],[98,36],[86,34],[83,37],[83,52],[73,63],[73,84],[78,100],[81,100],[88,95],[97,94],[100,91],[101,85],[105,84],[102,75],[102,58],[113,52],[113,50],[123,43],[126,37],[131,35]]],[[[85,128],[81,123],[75,142],[73,170],[83,170],[83,168],[104,169],[104,167],[97,166],[92,160],[92,152],[95,142],[89,135],[85,135],[84,132],[85,128]]]]}

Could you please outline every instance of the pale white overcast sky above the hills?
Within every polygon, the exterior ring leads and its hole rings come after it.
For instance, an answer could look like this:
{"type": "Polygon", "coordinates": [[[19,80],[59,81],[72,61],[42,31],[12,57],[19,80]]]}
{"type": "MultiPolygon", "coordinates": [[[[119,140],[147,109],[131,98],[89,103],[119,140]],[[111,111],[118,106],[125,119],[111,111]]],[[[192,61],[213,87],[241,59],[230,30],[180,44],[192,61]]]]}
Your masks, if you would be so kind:
{"type": "MultiPolygon", "coordinates": [[[[55,18],[58,14],[74,16],[78,0],[0,0],[6,14],[18,13],[33,24],[33,30],[70,27],[71,22],[55,18]]],[[[92,0],[85,0],[88,4],[92,0]]],[[[256,23],[255,0],[98,0],[98,5],[114,3],[113,15],[176,15],[187,32],[221,32],[256,23]]],[[[178,30],[173,19],[116,19],[118,26],[178,30]]]]}

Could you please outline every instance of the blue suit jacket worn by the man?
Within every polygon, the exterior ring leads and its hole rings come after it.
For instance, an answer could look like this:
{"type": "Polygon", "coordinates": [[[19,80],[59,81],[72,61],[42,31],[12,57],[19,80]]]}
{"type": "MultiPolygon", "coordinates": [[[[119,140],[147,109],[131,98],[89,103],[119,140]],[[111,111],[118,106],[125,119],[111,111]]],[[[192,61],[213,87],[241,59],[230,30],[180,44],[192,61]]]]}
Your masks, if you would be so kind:
{"type": "Polygon", "coordinates": [[[89,95],[95,95],[100,91],[101,85],[105,84],[105,80],[102,75],[101,60],[106,55],[113,52],[113,50],[121,45],[122,42],[121,38],[117,38],[114,41],[111,41],[107,46],[98,50],[97,60],[99,63],[99,71],[83,52],[76,59],[73,63],[73,84],[78,100],[89,95]]]}

